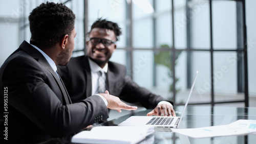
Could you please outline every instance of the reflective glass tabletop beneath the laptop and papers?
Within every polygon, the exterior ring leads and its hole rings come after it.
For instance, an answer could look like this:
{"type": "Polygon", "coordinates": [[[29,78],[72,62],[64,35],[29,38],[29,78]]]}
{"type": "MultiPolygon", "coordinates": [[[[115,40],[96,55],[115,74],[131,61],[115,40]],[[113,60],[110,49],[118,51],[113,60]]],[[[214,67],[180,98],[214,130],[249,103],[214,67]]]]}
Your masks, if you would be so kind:
{"type": "MultiPolygon", "coordinates": [[[[177,116],[180,116],[184,106],[177,106],[177,116]]],[[[127,114],[111,121],[104,122],[97,126],[117,126],[131,115],[146,115],[151,110],[141,110],[132,114],[127,114]]],[[[188,106],[182,118],[179,128],[200,128],[209,126],[227,125],[238,119],[256,120],[256,108],[240,107],[209,107],[209,106],[188,106]]],[[[91,128],[85,129],[90,130],[91,128]]],[[[191,138],[172,131],[155,131],[140,143],[255,143],[256,134],[220,136],[209,138],[191,138]]]]}

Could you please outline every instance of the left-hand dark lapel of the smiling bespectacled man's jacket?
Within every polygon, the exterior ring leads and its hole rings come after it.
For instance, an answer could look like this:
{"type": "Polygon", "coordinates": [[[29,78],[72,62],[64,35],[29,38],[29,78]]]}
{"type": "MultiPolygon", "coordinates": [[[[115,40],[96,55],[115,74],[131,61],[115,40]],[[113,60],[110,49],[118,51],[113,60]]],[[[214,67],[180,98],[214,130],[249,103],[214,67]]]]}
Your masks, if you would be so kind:
{"type": "Polygon", "coordinates": [[[86,74],[86,98],[92,95],[92,75],[88,57],[83,57],[83,70],[86,74]]]}

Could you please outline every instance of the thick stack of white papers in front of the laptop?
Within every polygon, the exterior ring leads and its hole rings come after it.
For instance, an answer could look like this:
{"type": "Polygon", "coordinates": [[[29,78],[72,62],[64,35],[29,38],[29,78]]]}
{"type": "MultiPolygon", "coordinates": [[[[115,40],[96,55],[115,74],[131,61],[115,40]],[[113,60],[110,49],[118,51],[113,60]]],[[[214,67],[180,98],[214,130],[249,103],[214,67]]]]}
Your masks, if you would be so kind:
{"type": "Polygon", "coordinates": [[[154,132],[152,126],[102,126],[74,135],[74,143],[138,143],[154,132]]]}

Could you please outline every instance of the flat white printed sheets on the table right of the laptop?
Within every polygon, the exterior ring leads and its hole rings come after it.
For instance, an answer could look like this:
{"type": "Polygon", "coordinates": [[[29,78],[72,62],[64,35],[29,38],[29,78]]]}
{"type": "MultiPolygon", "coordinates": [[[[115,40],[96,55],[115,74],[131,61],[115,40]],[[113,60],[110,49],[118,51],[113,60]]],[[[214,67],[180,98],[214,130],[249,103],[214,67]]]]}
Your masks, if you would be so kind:
{"type": "Polygon", "coordinates": [[[193,129],[172,129],[172,131],[194,138],[245,135],[249,133],[256,134],[256,121],[240,119],[228,125],[193,129]]]}

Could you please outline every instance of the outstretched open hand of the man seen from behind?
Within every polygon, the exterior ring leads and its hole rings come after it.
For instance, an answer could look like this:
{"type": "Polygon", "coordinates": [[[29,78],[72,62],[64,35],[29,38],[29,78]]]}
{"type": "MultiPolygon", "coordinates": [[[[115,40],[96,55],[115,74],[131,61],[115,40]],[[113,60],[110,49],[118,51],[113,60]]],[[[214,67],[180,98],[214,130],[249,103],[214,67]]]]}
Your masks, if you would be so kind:
{"type": "Polygon", "coordinates": [[[120,101],[118,97],[115,97],[114,95],[109,94],[108,90],[106,90],[105,93],[99,93],[99,94],[102,95],[106,99],[106,101],[108,101],[108,106],[106,107],[108,107],[109,109],[115,109],[118,112],[121,112],[121,109],[125,109],[125,110],[137,109],[137,107],[126,105],[125,103],[120,101]]]}

